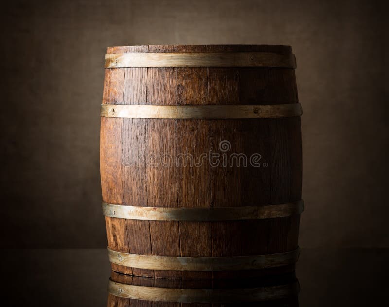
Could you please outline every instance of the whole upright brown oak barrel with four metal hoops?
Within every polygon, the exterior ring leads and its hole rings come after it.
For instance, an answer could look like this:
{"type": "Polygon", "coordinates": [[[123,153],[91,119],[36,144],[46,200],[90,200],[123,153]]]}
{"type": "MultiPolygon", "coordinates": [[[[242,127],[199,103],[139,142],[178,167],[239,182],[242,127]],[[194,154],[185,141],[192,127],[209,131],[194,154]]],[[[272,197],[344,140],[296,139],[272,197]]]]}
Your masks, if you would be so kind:
{"type": "Polygon", "coordinates": [[[302,111],[291,47],[110,47],[105,67],[112,270],[183,279],[294,271],[302,111]]]}

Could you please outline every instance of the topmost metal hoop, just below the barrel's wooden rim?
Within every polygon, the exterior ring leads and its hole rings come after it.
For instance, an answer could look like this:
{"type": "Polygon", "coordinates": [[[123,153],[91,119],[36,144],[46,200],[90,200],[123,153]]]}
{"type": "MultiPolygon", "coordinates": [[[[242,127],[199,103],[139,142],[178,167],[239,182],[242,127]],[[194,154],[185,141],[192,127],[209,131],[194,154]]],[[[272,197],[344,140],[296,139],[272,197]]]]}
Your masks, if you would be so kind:
{"type": "Polygon", "coordinates": [[[106,54],[105,68],[283,67],[296,68],[294,54],[271,52],[173,52],[106,54]]]}

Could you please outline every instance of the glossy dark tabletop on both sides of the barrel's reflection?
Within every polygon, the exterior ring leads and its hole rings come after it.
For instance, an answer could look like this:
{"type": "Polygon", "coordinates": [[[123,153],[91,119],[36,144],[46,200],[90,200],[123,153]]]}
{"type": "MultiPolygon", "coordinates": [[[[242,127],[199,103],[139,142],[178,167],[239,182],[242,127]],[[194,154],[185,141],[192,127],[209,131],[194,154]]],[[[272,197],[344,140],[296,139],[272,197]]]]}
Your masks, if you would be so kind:
{"type": "MultiPolygon", "coordinates": [[[[3,250],[1,258],[6,306],[107,306],[106,250],[3,250]]],[[[302,249],[300,306],[388,306],[388,260],[389,249],[302,249]]]]}

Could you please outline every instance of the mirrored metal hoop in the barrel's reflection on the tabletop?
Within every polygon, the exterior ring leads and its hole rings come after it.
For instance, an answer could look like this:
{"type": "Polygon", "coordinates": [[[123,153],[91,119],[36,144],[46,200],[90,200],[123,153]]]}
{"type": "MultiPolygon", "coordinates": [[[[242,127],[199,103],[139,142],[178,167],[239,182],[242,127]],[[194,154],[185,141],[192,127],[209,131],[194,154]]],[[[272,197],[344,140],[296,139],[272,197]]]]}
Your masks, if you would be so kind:
{"type": "Polygon", "coordinates": [[[298,295],[300,285],[295,281],[286,285],[242,289],[175,289],[128,285],[109,280],[108,293],[129,299],[171,303],[227,303],[278,300],[298,295]]]}

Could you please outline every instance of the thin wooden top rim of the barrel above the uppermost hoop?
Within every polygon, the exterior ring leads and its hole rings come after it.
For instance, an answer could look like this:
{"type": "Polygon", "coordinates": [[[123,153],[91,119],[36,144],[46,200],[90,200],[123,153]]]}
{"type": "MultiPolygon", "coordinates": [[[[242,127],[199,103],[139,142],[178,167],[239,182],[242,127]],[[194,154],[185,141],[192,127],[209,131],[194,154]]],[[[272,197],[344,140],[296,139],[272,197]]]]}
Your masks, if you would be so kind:
{"type": "Polygon", "coordinates": [[[142,52],[274,52],[292,53],[290,45],[276,44],[167,44],[167,45],[123,45],[109,46],[107,53],[142,52]],[[151,49],[151,50],[149,50],[151,49]]]}

